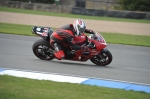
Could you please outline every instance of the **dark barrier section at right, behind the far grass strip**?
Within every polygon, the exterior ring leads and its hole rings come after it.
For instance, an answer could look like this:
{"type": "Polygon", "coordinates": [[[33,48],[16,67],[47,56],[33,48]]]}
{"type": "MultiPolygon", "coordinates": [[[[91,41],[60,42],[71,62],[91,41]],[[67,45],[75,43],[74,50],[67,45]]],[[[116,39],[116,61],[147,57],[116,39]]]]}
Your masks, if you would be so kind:
{"type": "Polygon", "coordinates": [[[136,11],[118,11],[118,10],[95,10],[84,8],[72,8],[73,14],[91,15],[91,16],[107,16],[116,18],[131,18],[131,19],[150,19],[150,13],[136,11]]]}

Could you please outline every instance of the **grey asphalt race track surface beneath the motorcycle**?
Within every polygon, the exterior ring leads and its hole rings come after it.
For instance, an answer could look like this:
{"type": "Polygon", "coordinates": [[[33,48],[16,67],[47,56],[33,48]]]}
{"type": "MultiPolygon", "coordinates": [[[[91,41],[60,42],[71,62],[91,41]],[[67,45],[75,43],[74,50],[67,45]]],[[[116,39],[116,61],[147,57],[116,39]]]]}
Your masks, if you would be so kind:
{"type": "Polygon", "coordinates": [[[102,67],[90,61],[40,60],[32,52],[38,39],[41,38],[0,33],[0,68],[150,84],[150,47],[108,44],[113,61],[102,67]]]}

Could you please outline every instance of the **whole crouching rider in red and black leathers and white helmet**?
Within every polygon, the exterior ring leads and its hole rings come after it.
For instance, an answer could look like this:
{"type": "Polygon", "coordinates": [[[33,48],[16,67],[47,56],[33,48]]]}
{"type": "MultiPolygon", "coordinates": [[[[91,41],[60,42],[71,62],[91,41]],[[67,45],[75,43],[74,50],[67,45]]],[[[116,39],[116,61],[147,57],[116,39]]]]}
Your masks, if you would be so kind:
{"type": "Polygon", "coordinates": [[[55,50],[55,57],[59,60],[65,57],[61,47],[62,42],[67,42],[73,50],[80,50],[81,47],[76,45],[73,39],[83,32],[94,34],[93,30],[86,29],[86,25],[81,19],[77,19],[73,24],[68,24],[56,29],[50,36],[50,45],[55,50]]]}

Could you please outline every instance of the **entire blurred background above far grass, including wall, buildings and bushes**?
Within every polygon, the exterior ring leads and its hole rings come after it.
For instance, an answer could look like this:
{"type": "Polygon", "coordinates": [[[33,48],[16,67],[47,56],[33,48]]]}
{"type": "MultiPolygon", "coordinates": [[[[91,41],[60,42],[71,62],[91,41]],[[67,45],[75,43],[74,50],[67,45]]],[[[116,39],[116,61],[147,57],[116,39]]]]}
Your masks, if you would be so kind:
{"type": "Polygon", "coordinates": [[[60,13],[150,19],[150,0],[0,0],[0,5],[60,13]]]}

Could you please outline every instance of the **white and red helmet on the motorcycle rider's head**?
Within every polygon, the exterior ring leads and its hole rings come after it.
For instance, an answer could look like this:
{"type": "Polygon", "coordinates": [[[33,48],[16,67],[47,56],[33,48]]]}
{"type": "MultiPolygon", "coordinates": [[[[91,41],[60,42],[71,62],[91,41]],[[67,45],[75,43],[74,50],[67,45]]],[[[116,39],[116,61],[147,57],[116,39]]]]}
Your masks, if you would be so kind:
{"type": "Polygon", "coordinates": [[[74,23],[73,23],[73,27],[75,30],[75,35],[79,36],[81,33],[83,33],[86,29],[86,25],[85,23],[81,20],[81,19],[77,19],[74,23]]]}

